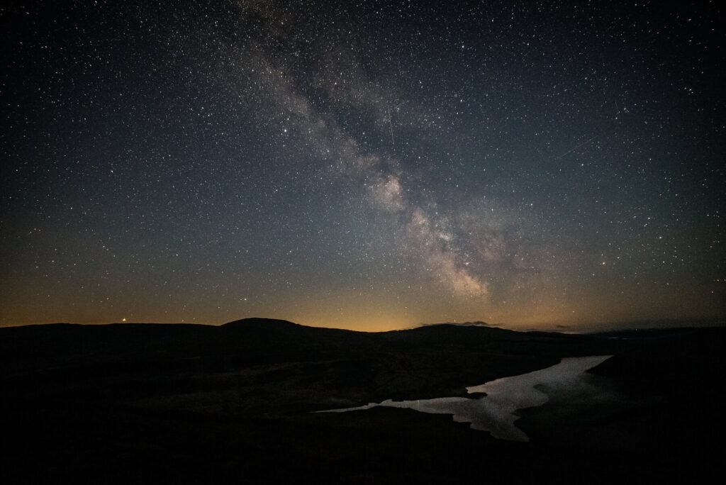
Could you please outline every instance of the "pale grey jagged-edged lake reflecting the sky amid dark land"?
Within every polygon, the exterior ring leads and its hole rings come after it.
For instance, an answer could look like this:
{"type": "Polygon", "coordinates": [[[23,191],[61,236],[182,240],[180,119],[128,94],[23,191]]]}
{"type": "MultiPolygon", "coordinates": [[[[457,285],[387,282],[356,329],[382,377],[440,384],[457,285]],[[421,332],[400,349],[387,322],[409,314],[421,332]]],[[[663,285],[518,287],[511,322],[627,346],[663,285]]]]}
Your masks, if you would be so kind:
{"type": "Polygon", "coordinates": [[[494,438],[512,441],[529,441],[526,434],[514,425],[517,409],[542,406],[547,402],[547,394],[534,386],[544,384],[547,389],[567,390],[585,388],[585,371],[604,362],[610,356],[570,357],[559,364],[526,374],[492,380],[492,382],[467,388],[470,394],[484,392],[486,396],[478,399],[465,397],[440,397],[436,399],[417,399],[414,401],[391,401],[371,403],[361,407],[331,409],[328,412],[346,412],[372,407],[402,407],[432,414],[450,414],[454,421],[471,423],[471,428],[489,431],[494,438]]]}

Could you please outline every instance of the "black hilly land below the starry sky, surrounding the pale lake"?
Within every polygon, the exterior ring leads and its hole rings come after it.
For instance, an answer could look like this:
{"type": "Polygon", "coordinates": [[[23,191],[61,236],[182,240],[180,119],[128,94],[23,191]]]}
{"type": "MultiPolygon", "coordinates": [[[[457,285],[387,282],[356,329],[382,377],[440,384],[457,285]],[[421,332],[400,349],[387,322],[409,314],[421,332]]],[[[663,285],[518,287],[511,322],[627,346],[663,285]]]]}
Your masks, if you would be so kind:
{"type": "Polygon", "coordinates": [[[0,329],[2,483],[655,483],[722,457],[726,329],[609,335],[438,325],[388,333],[246,319],[0,329]],[[614,354],[608,392],[555,390],[529,443],[374,408],[614,354]]]}

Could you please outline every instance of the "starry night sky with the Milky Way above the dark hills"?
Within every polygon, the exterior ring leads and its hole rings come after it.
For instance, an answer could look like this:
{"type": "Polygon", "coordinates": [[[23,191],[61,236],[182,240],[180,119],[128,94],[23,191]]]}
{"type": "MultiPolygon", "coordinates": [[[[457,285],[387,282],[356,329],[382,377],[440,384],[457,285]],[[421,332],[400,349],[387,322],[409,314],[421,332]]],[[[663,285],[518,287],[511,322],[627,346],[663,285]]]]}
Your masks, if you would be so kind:
{"type": "Polygon", "coordinates": [[[0,325],[723,318],[718,3],[9,2],[0,325]]]}

